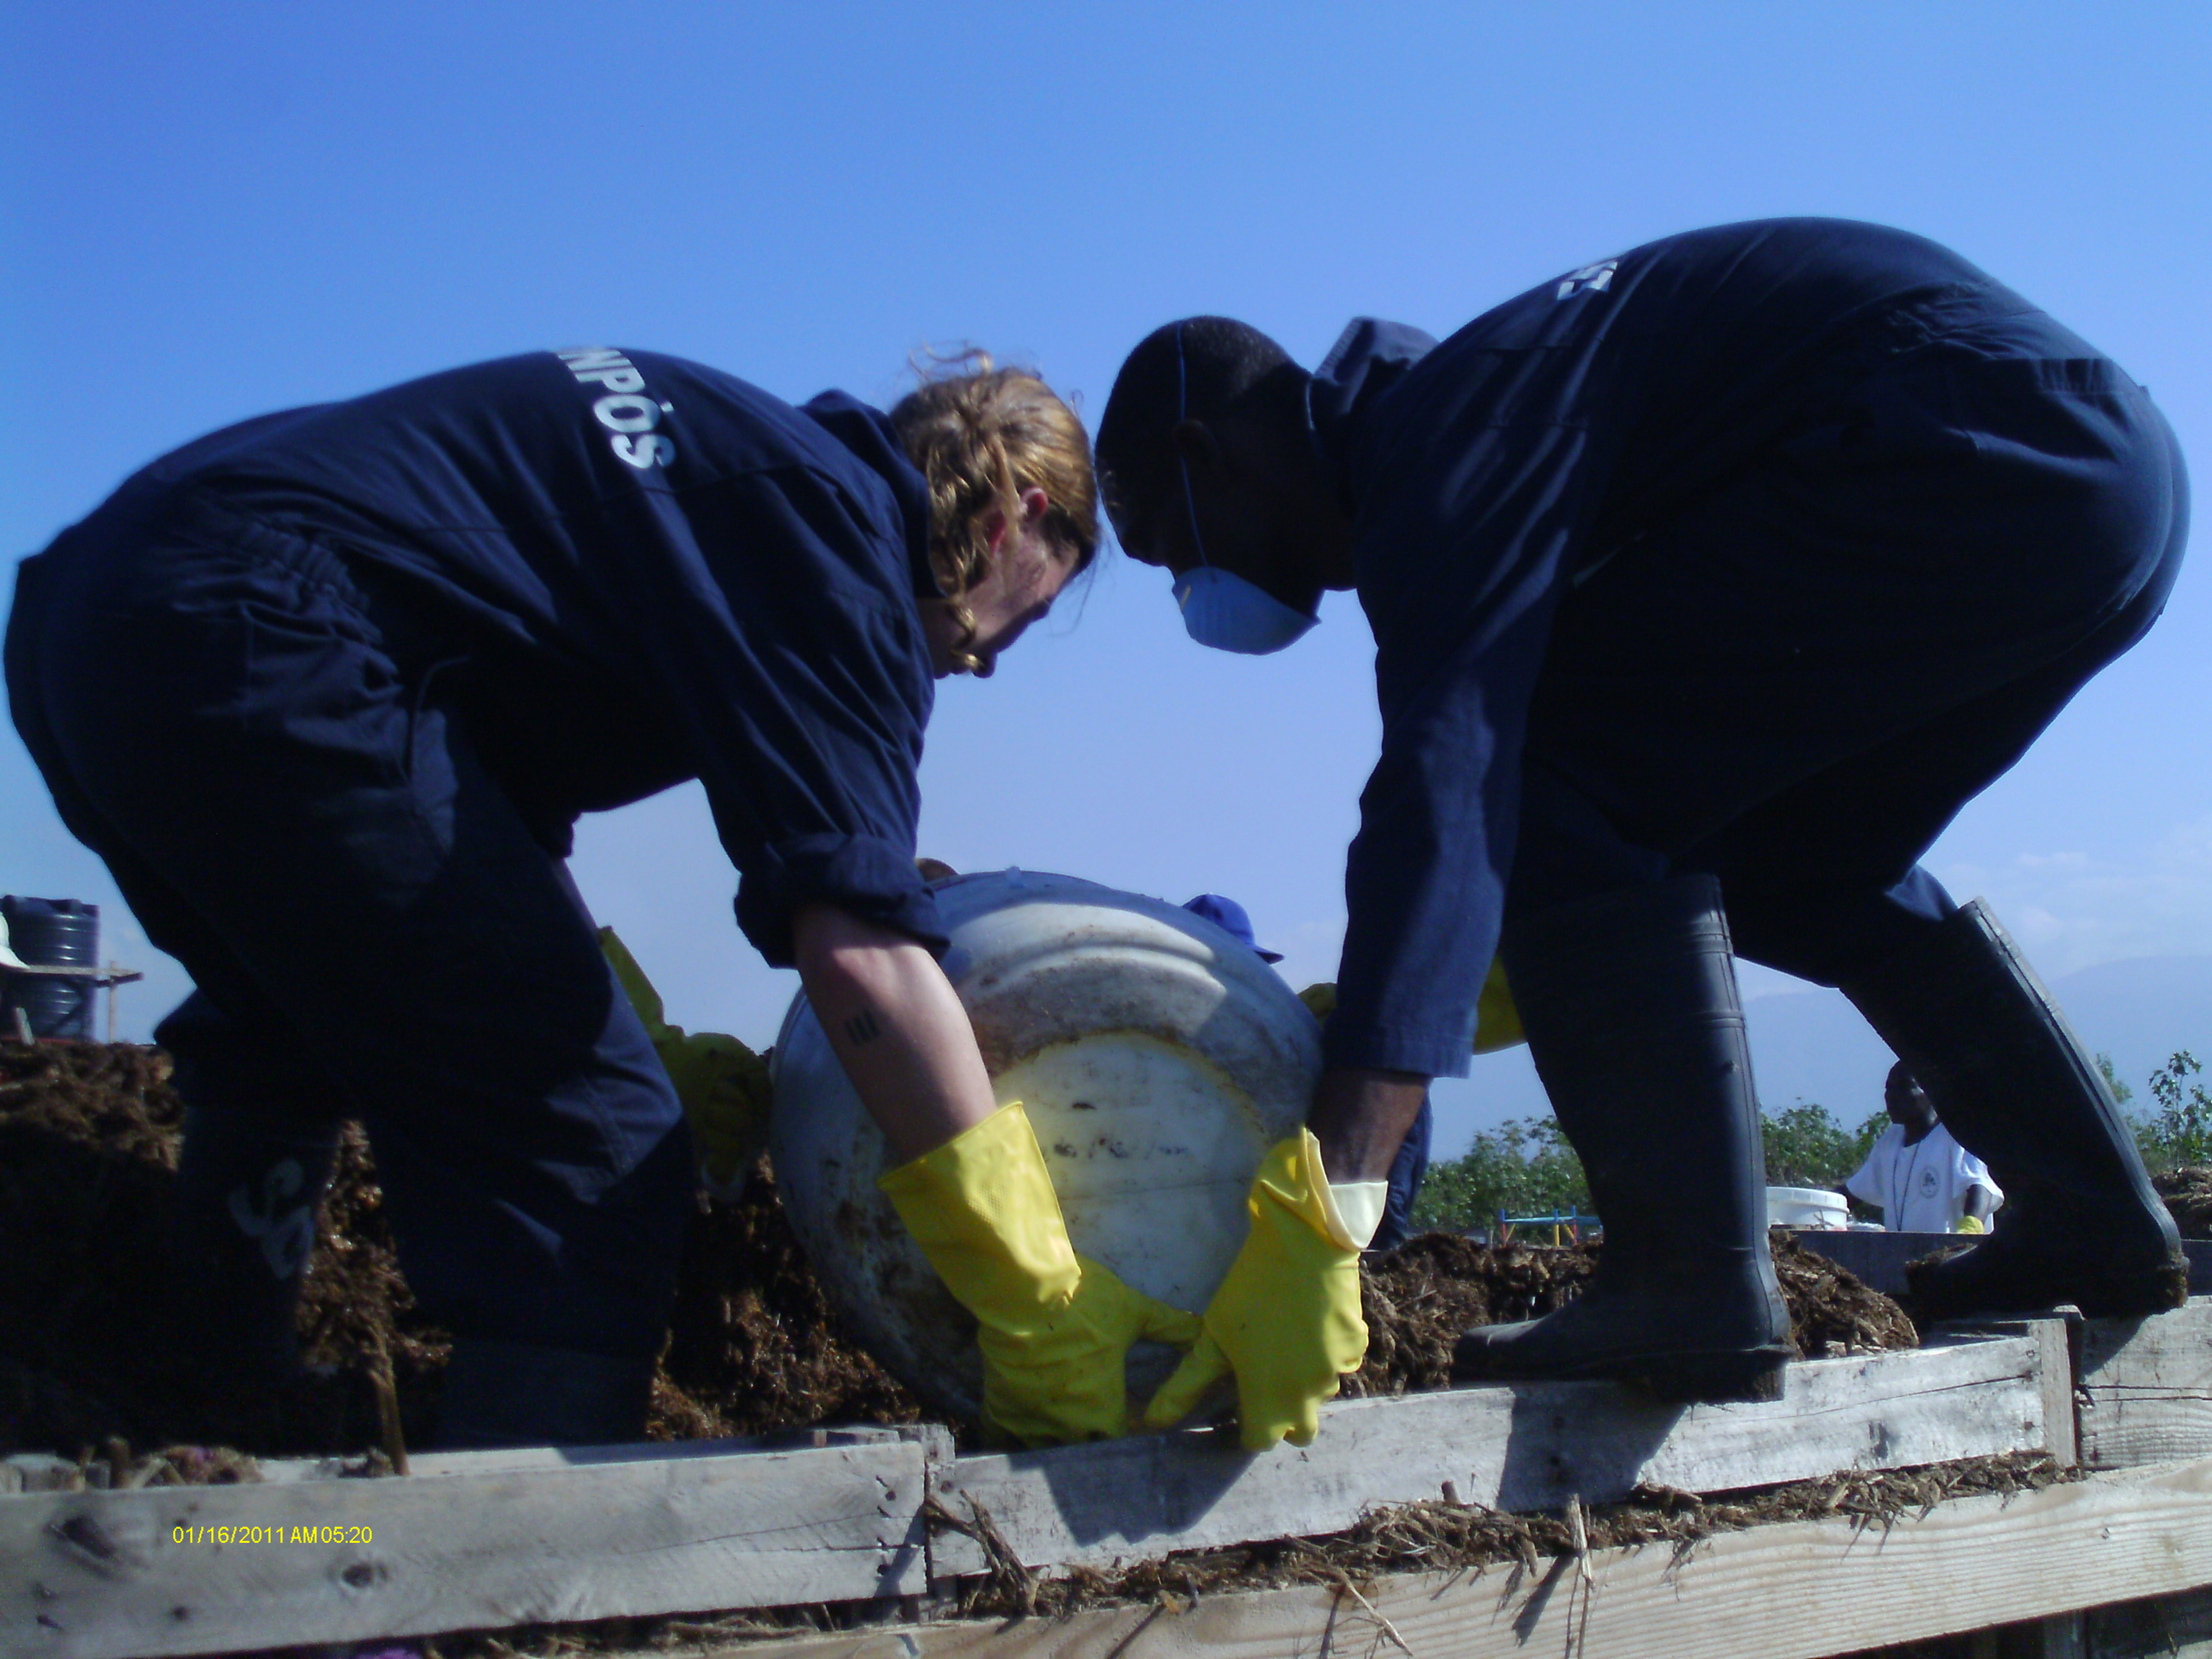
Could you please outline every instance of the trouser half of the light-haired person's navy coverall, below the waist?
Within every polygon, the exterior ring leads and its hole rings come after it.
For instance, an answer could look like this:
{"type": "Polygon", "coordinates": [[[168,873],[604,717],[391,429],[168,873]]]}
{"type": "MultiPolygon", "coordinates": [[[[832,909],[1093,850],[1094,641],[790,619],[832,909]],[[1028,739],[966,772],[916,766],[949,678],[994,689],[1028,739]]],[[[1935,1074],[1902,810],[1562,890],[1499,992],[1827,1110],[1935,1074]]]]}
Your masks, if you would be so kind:
{"type": "Polygon", "coordinates": [[[358,1117],[429,1318],[650,1360],[690,1137],[566,867],[438,697],[460,650],[312,538],[126,493],[22,566],[7,686],[192,973],[157,1031],[188,1126],[358,1117]]]}

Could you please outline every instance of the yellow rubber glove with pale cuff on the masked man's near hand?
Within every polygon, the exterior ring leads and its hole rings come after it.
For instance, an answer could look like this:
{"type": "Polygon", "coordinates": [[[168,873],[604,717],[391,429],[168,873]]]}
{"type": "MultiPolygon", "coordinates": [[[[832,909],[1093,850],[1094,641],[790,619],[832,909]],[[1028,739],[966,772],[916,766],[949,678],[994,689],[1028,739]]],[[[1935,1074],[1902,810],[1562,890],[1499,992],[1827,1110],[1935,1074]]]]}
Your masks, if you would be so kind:
{"type": "Polygon", "coordinates": [[[1237,1374],[1245,1451],[1314,1442],[1321,1402],[1367,1356],[1360,1241],[1343,1234],[1321,1172],[1321,1141],[1301,1128],[1261,1159],[1245,1199],[1252,1232],[1206,1307],[1206,1336],[1159,1385],[1144,1427],[1168,1429],[1237,1374]]]}

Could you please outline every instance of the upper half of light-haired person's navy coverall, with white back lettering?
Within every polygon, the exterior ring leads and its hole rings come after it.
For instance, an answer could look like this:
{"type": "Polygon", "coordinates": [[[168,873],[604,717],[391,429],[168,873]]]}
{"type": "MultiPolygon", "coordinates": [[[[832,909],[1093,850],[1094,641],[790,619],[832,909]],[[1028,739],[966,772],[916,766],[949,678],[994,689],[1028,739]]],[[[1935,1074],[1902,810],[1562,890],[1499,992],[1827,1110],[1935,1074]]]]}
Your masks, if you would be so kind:
{"type": "Polygon", "coordinates": [[[166,495],[334,546],[387,595],[422,695],[551,852],[580,812],[697,776],[770,962],[810,900],[942,942],[914,869],[929,491],[876,409],[535,352],[248,420],[117,500],[166,495]]]}

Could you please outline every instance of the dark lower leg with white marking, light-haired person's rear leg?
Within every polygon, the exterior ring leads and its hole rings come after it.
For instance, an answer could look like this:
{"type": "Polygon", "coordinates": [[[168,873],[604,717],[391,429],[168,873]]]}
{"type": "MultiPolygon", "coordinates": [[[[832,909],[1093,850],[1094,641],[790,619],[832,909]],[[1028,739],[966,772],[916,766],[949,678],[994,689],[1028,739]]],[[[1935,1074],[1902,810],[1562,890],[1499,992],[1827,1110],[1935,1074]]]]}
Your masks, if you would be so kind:
{"type": "Polygon", "coordinates": [[[177,1159],[177,1340],[192,1369],[279,1389],[299,1369],[294,1314],[334,1124],[188,1110],[177,1159]]]}

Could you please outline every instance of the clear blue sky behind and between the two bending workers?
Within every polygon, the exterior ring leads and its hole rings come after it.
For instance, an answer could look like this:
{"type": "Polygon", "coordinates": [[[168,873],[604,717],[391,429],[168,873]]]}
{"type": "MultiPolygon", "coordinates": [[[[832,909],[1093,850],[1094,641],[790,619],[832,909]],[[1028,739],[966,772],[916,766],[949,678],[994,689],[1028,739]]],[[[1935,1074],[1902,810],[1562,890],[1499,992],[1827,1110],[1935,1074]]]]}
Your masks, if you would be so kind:
{"type": "MultiPolygon", "coordinates": [[[[1095,418],[1170,316],[1312,363],[1356,314],[1442,334],[1650,237],[1801,212],[2026,292],[2212,480],[2194,0],[73,0],[0,4],[0,62],[7,557],[199,431],[473,358],[604,341],[889,400],[909,354],[973,341],[1095,418]]],[[[2046,973],[2212,951],[2203,566],[1931,854],[2046,973]]],[[[1199,650],[1161,573],[1106,560],[995,679],[942,688],[922,849],[1225,891],[1294,984],[1332,978],[1378,726],[1358,606],[1323,619],[1279,657],[1199,650]]],[[[697,790],[586,821],[575,872],[670,1018],[774,1035],[794,980],[737,936],[697,790]]],[[[13,730],[0,889],[113,905],[108,953],[153,971],[126,1033],[181,993],[13,730]]],[[[1531,1102],[1524,1062],[1480,1062],[1440,1093],[1440,1150],[1531,1102]]]]}

